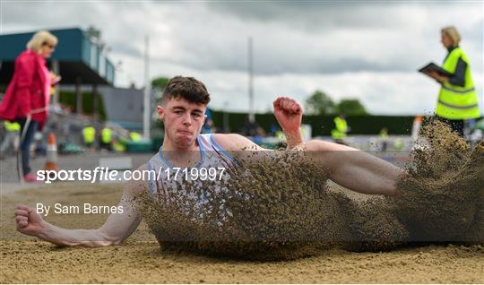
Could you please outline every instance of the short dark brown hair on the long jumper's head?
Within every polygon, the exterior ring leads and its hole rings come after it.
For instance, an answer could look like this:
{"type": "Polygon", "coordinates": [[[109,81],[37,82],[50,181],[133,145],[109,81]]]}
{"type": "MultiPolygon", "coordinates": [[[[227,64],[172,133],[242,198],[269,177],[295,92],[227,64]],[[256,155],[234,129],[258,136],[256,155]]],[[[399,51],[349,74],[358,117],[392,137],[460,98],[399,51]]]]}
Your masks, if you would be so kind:
{"type": "Polygon", "coordinates": [[[194,79],[194,77],[175,76],[169,80],[163,91],[161,100],[186,99],[191,103],[207,105],[210,102],[210,94],[205,84],[194,79]]]}

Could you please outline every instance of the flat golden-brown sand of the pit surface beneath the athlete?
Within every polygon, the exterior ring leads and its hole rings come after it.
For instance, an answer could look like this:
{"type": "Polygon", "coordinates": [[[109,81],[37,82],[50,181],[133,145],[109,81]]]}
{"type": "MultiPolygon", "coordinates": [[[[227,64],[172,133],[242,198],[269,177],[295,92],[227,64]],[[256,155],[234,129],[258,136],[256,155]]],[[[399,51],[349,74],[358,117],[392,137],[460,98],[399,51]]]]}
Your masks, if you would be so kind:
{"type": "MultiPolygon", "coordinates": [[[[482,246],[409,247],[385,253],[330,249],[293,261],[248,262],[161,252],[143,223],[125,244],[103,248],[60,248],[15,231],[17,203],[116,204],[121,191],[117,185],[57,184],[4,195],[0,282],[484,282],[482,246]]],[[[53,215],[48,221],[90,229],[105,218],[53,215]]]]}

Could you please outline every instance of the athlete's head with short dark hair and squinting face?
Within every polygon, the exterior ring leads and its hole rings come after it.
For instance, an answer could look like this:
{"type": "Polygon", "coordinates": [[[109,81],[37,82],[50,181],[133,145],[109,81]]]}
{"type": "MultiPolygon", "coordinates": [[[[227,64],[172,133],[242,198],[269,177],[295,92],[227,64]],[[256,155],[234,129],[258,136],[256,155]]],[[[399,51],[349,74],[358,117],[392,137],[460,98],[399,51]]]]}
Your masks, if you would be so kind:
{"type": "Polygon", "coordinates": [[[193,77],[176,76],[169,80],[158,115],[165,125],[165,137],[178,147],[194,145],[205,121],[210,94],[193,77]]]}

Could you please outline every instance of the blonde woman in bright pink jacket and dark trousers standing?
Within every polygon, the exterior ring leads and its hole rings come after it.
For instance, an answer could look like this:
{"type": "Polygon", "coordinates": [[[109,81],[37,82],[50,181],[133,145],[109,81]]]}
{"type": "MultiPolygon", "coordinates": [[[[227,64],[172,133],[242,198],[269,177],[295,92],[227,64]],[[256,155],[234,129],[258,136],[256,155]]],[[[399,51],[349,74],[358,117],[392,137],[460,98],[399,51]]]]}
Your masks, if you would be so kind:
{"type": "Polygon", "coordinates": [[[21,125],[22,174],[27,182],[37,177],[30,172],[30,144],[48,117],[50,73],[46,58],[56,48],[57,38],[48,31],[37,32],[15,60],[13,78],[0,104],[0,118],[21,125]]]}

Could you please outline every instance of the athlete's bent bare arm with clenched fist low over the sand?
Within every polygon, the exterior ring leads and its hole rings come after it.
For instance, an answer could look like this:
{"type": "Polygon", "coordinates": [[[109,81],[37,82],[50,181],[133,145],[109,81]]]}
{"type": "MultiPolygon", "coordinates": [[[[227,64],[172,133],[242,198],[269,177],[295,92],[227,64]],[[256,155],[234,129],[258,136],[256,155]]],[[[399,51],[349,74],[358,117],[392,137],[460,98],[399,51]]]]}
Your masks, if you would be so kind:
{"type": "MultiPolygon", "coordinates": [[[[143,170],[144,166],[138,169],[143,170]]],[[[126,183],[118,203],[123,212],[112,213],[99,229],[63,229],[43,220],[42,217],[25,205],[15,210],[17,230],[22,234],[38,237],[57,246],[110,246],[118,245],[138,227],[141,218],[134,211],[135,194],[146,191],[142,181],[126,183]]]]}

